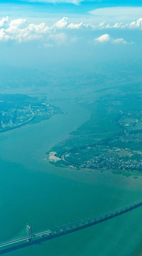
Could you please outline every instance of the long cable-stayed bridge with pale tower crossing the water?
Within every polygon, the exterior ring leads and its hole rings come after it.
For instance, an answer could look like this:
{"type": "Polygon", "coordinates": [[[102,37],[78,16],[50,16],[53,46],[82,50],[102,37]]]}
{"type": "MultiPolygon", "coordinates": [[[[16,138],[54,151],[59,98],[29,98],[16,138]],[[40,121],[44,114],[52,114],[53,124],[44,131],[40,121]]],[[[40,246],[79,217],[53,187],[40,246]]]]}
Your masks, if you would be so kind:
{"type": "Polygon", "coordinates": [[[131,203],[127,206],[124,206],[122,208],[119,208],[117,210],[114,210],[114,211],[109,211],[109,212],[101,214],[101,215],[97,215],[97,216],[94,216],[91,218],[86,218],[84,220],[79,220],[74,223],[62,225],[58,228],[51,228],[51,229],[44,230],[44,231],[41,231],[38,233],[32,233],[31,225],[27,224],[27,227],[26,227],[27,235],[20,237],[20,238],[13,239],[13,240],[9,240],[6,242],[1,242],[0,243],[0,254],[2,255],[6,252],[18,250],[22,247],[27,247],[30,245],[38,244],[38,243],[46,241],[46,240],[58,238],[61,235],[67,235],[67,234],[75,232],[77,230],[82,230],[84,228],[88,228],[92,225],[102,223],[103,221],[107,221],[111,218],[114,218],[116,216],[127,213],[130,210],[133,210],[140,206],[142,206],[142,199],[139,201],[136,201],[134,203],[131,203]]]}

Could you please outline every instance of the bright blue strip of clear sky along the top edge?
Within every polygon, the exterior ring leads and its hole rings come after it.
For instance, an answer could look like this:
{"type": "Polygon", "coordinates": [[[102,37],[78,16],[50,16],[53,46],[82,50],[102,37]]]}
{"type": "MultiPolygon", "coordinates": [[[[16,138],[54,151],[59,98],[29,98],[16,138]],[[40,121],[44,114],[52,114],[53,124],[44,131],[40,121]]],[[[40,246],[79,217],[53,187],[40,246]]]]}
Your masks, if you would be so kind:
{"type": "Polygon", "coordinates": [[[50,11],[53,13],[71,12],[75,14],[86,14],[91,9],[99,9],[105,7],[114,6],[142,6],[139,0],[1,0],[1,5],[6,4],[9,9],[9,5],[19,6],[21,5],[35,11],[50,11]]]}

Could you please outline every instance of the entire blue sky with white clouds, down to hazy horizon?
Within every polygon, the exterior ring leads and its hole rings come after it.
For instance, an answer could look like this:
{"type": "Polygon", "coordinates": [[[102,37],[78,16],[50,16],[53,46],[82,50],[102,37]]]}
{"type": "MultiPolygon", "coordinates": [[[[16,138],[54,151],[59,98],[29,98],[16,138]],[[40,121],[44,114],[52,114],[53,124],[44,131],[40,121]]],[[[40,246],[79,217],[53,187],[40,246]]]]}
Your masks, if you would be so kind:
{"type": "Polygon", "coordinates": [[[1,0],[0,65],[141,63],[138,0],[1,0]]]}

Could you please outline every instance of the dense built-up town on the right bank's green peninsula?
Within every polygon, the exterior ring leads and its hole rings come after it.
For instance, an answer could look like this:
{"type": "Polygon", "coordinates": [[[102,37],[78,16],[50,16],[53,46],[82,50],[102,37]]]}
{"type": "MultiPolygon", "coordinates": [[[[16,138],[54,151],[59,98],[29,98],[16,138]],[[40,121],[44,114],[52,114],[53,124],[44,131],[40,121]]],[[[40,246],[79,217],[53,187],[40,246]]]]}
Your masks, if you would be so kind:
{"type": "MultiPolygon", "coordinates": [[[[129,149],[129,143],[141,145],[142,143],[142,130],[137,130],[136,124],[140,124],[142,120],[141,110],[131,110],[124,112],[120,119],[117,120],[121,127],[128,127],[124,132],[116,135],[108,140],[107,146],[102,143],[102,146],[96,146],[91,154],[94,156],[92,159],[83,161],[81,167],[86,169],[120,169],[120,170],[141,170],[142,171],[142,151],[138,146],[138,151],[129,149]],[[129,129],[130,127],[130,129],[129,129]],[[133,129],[131,129],[133,127],[133,129]],[[115,143],[123,142],[124,148],[119,149],[115,147],[115,143]]],[[[135,146],[136,148],[136,146],[135,146]]],[[[82,157],[83,159],[83,157],[82,157]]]]}

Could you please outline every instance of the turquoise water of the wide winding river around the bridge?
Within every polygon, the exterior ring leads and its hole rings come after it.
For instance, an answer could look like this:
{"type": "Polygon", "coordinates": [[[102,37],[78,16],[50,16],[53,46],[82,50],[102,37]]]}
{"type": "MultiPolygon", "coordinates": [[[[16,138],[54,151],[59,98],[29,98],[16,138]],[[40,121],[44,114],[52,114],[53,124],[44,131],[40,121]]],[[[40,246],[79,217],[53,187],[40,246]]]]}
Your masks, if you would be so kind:
{"type": "MultiPolygon", "coordinates": [[[[44,230],[103,213],[142,198],[142,178],[58,168],[45,152],[80,127],[89,112],[73,100],[48,121],[0,134],[0,240],[24,233],[26,223],[44,230]]],[[[9,255],[129,256],[142,252],[142,208],[92,228],[9,255]]]]}

